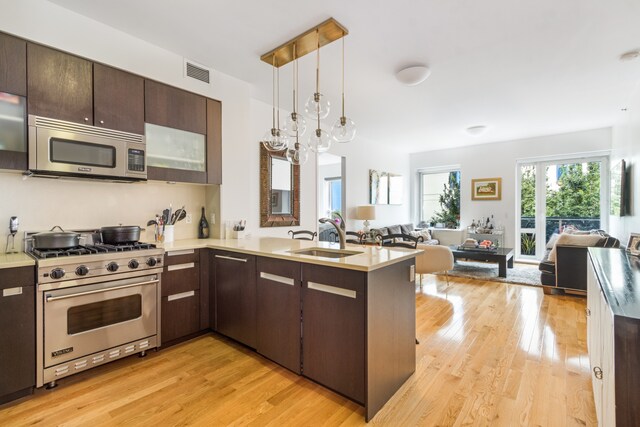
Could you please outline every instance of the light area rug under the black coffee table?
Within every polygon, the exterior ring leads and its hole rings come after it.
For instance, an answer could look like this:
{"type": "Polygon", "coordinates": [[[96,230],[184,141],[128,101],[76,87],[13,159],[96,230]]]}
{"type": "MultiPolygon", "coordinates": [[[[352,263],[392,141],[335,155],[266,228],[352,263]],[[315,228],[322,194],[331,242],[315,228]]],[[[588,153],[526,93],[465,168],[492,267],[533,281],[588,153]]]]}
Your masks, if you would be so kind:
{"type": "Polygon", "coordinates": [[[507,277],[498,277],[497,263],[458,260],[453,266],[453,270],[449,271],[449,276],[542,286],[538,266],[528,264],[514,264],[513,268],[507,268],[507,277]]]}

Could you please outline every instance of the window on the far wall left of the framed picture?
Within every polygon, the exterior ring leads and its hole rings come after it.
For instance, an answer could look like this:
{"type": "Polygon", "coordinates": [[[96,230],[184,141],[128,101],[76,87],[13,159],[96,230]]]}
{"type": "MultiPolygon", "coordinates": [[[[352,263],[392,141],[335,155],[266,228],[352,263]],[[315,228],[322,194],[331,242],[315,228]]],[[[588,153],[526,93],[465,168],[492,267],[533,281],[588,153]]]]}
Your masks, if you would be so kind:
{"type": "Polygon", "coordinates": [[[420,224],[457,228],[460,223],[460,171],[420,172],[420,224]]]}

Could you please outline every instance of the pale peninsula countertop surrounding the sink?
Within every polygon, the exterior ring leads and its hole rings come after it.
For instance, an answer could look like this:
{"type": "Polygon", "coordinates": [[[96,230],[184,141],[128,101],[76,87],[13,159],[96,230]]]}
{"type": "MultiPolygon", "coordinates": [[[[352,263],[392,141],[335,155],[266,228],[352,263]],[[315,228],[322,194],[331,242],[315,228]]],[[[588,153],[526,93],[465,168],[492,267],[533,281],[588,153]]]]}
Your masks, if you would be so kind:
{"type": "Polygon", "coordinates": [[[370,245],[346,245],[350,251],[362,252],[344,258],[324,258],[318,256],[300,255],[291,253],[305,248],[329,248],[339,249],[337,243],[312,242],[280,237],[256,237],[251,239],[185,239],[171,243],[158,244],[165,251],[177,251],[186,249],[222,249],[240,252],[250,255],[258,255],[270,258],[278,258],[289,261],[298,261],[307,264],[324,265],[347,270],[374,271],[388,265],[396,264],[414,258],[422,253],[422,250],[402,248],[381,248],[370,245]]]}

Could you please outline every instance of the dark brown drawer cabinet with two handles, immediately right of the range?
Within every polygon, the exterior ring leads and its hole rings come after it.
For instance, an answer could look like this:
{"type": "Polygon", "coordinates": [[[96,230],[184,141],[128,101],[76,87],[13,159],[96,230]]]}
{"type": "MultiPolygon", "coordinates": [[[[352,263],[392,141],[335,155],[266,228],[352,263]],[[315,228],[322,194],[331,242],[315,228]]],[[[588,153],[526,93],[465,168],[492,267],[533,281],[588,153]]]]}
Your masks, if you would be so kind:
{"type": "Polygon", "coordinates": [[[199,250],[168,251],[162,273],[162,344],[171,344],[199,332],[199,250]]]}

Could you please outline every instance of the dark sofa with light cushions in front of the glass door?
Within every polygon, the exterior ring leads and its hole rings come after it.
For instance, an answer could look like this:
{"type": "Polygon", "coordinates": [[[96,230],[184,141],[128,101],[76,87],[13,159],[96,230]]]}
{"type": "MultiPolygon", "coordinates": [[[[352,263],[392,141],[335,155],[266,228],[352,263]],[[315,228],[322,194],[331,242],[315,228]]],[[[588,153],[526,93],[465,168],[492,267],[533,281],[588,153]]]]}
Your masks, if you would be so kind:
{"type": "Polygon", "coordinates": [[[540,262],[540,282],[546,294],[587,291],[587,249],[618,248],[620,241],[602,230],[554,234],[540,262]]]}

